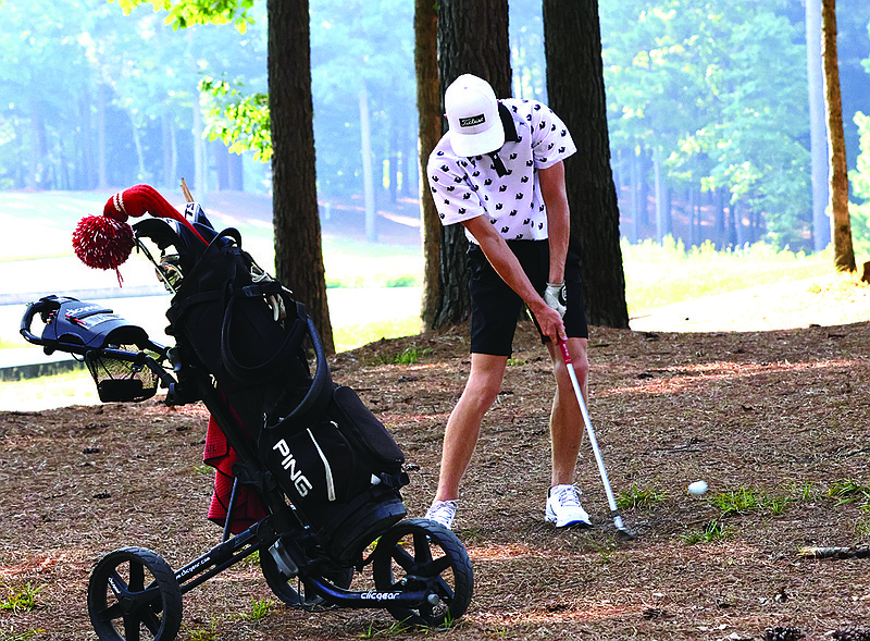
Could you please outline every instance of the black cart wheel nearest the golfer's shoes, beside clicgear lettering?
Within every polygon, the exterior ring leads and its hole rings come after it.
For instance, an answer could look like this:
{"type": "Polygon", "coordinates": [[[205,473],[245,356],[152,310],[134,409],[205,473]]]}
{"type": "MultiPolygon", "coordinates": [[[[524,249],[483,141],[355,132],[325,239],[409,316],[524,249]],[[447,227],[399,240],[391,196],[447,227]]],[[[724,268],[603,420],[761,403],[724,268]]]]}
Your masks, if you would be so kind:
{"type": "Polygon", "coordinates": [[[396,619],[440,628],[465,614],[474,590],[471,560],[447,528],[427,519],[399,521],[381,537],[373,554],[378,592],[430,592],[418,608],[387,606],[396,619]]]}

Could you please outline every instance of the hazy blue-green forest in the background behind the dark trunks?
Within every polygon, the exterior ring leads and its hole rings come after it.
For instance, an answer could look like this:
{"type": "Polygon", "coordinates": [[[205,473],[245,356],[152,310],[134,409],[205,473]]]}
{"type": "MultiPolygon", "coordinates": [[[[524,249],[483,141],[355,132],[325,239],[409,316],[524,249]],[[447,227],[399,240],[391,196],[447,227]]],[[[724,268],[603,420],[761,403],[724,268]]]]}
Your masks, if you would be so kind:
{"type": "MultiPolygon", "coordinates": [[[[812,219],[804,3],[599,9],[622,235],[718,248],[826,246],[830,230],[812,219]]],[[[125,16],[102,0],[0,4],[0,189],[145,182],[175,190],[185,176],[198,195],[269,193],[256,121],[244,140],[254,150],[237,155],[220,139],[227,100],[245,96],[254,108],[264,99],[264,11],[254,3],[245,33],[232,24],[176,32],[148,7],[125,16]]],[[[311,2],[322,212],[362,200],[363,157],[376,169],[378,209],[418,196],[412,13],[400,0],[311,2]]],[[[870,7],[841,0],[837,20],[861,254],[870,248],[870,7]]],[[[517,97],[547,99],[542,34],[539,7],[511,3],[517,97]]]]}

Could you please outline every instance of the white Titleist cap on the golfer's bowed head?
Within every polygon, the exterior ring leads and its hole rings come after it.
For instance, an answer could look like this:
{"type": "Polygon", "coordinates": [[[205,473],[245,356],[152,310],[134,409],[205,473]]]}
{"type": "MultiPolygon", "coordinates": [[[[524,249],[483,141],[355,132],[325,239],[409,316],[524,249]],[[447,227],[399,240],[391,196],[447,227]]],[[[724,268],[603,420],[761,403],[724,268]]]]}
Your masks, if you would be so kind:
{"type": "Polygon", "coordinates": [[[505,144],[498,100],[486,81],[471,74],[459,76],[447,87],[444,107],[457,156],[481,156],[505,144]]]}

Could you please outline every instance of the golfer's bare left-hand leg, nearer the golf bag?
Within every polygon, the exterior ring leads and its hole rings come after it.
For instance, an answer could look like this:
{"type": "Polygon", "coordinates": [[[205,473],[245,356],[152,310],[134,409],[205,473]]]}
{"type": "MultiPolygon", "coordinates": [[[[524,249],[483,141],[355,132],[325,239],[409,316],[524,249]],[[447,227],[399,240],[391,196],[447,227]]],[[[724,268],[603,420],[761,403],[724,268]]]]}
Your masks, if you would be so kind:
{"type": "Polygon", "coordinates": [[[501,389],[507,362],[506,356],[471,355],[469,380],[444,432],[436,501],[451,501],[459,497],[459,482],[477,444],[481,421],[501,389]]]}

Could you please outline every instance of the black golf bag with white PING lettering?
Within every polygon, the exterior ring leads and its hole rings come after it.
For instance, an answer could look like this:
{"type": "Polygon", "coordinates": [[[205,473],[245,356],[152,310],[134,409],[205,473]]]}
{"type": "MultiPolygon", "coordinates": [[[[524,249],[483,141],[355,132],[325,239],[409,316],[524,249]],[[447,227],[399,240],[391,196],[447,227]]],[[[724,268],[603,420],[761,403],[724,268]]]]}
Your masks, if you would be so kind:
{"type": "MultiPolygon", "coordinates": [[[[192,219],[210,227],[201,211],[192,219]]],[[[213,377],[239,423],[233,429],[258,453],[258,461],[237,460],[233,474],[261,493],[279,486],[323,547],[352,565],[406,514],[401,451],[357,394],[332,381],[304,306],[257,266],[236,230],[212,231],[208,247],[199,243],[204,249],[191,257],[181,248],[196,244],[167,236],[169,226],[173,236],[188,233],[157,219],[135,229],[161,249],[179,248],[169,260],[164,251],[161,262],[177,285],[167,331],[181,360],[213,377]]]]}

